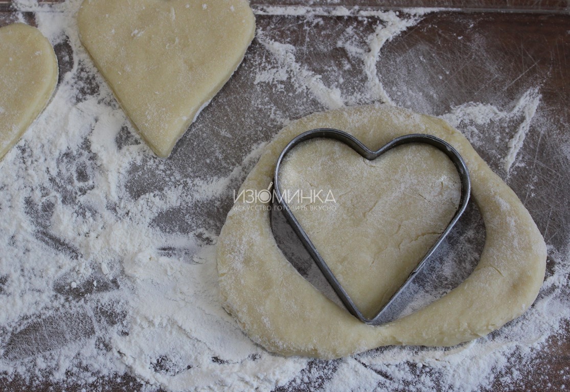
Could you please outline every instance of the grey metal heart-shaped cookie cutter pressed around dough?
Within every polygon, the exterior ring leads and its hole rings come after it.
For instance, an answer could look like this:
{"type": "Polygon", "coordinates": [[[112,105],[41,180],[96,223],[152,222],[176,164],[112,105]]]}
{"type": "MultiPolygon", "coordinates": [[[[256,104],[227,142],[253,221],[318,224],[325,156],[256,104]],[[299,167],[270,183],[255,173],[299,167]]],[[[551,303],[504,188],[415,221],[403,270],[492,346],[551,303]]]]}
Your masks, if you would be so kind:
{"type": "Polygon", "coordinates": [[[287,146],[283,149],[283,151],[279,155],[279,158],[275,166],[275,176],[273,182],[274,182],[273,186],[277,196],[277,203],[279,203],[280,206],[282,207],[282,211],[285,214],[287,221],[289,222],[292,229],[295,231],[295,233],[297,234],[297,236],[299,237],[299,239],[307,249],[308,253],[317,263],[317,266],[319,266],[321,272],[323,273],[325,278],[327,278],[333,290],[335,290],[336,294],[344,303],[344,306],[347,307],[347,309],[359,320],[364,321],[365,323],[368,324],[376,323],[376,321],[380,319],[384,311],[390,306],[390,304],[394,302],[394,299],[396,299],[398,294],[400,294],[400,292],[402,292],[402,290],[404,290],[404,288],[408,286],[408,284],[416,276],[418,271],[421,270],[426,260],[431,256],[431,254],[434,253],[435,249],[437,249],[437,247],[439,246],[439,244],[441,244],[441,242],[447,236],[447,234],[449,234],[455,223],[458,221],[459,217],[461,217],[461,215],[467,208],[467,202],[469,201],[469,196],[471,193],[471,179],[469,177],[469,171],[467,170],[465,161],[453,146],[451,146],[449,143],[440,138],[427,134],[409,134],[393,139],[392,141],[386,143],[386,145],[381,147],[379,150],[372,151],[368,147],[366,147],[363,143],[361,143],[357,138],[353,137],[351,134],[332,128],[313,129],[310,131],[306,131],[298,135],[296,138],[292,139],[292,141],[287,144],[287,146]],[[305,230],[299,224],[299,221],[295,218],[295,215],[291,211],[291,208],[287,204],[285,197],[283,197],[280,191],[279,168],[281,166],[283,159],[293,148],[295,148],[295,146],[299,145],[299,143],[315,138],[335,139],[337,141],[340,141],[345,145],[351,147],[354,151],[363,156],[363,158],[368,160],[374,160],[378,158],[380,155],[384,154],[384,152],[391,150],[394,147],[398,147],[409,143],[422,143],[422,144],[431,145],[433,147],[438,148],[449,157],[451,162],[453,162],[453,164],[455,165],[455,168],[457,169],[457,172],[459,174],[459,179],[461,180],[461,199],[459,200],[459,206],[455,211],[455,215],[451,219],[449,225],[447,225],[447,228],[443,230],[438,240],[435,241],[435,244],[431,246],[429,251],[427,251],[424,258],[422,258],[421,261],[418,263],[417,267],[412,271],[412,273],[408,275],[408,278],[405,280],[402,286],[400,286],[400,288],[398,288],[398,290],[394,292],[394,294],[392,295],[392,297],[390,297],[388,302],[386,302],[380,308],[380,310],[378,310],[376,315],[371,319],[363,315],[363,313],[359,310],[356,304],[352,301],[348,293],[344,290],[340,282],[336,279],[335,275],[332,273],[331,269],[329,269],[327,263],[324,261],[323,257],[321,257],[319,251],[316,249],[315,245],[312,243],[311,239],[309,238],[305,230]]]}

